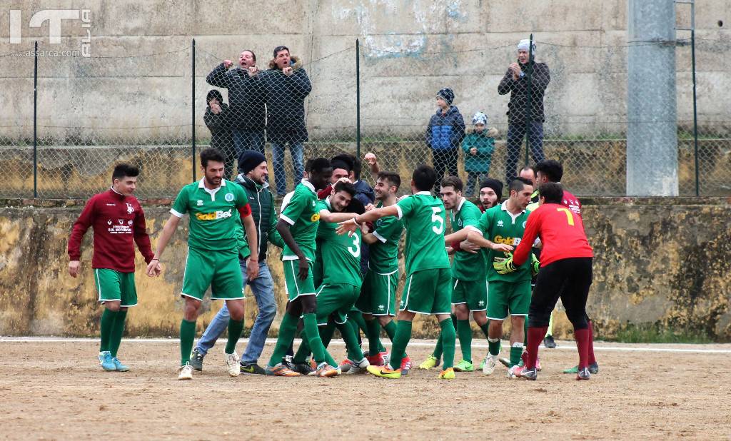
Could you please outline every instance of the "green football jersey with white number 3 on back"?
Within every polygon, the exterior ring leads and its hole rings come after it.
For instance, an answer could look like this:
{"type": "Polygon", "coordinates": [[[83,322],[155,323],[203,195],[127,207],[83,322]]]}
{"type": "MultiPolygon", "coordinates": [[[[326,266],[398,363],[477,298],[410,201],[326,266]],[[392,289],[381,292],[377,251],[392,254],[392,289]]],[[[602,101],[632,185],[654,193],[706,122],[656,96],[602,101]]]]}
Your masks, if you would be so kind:
{"type": "MultiPolygon", "coordinates": [[[[330,198],[317,203],[320,210],[332,211],[330,198]]],[[[363,275],[360,274],[360,230],[352,236],[337,234],[335,222],[320,222],[317,227],[318,250],[322,255],[322,284],[340,283],[360,286],[363,275]]]]}

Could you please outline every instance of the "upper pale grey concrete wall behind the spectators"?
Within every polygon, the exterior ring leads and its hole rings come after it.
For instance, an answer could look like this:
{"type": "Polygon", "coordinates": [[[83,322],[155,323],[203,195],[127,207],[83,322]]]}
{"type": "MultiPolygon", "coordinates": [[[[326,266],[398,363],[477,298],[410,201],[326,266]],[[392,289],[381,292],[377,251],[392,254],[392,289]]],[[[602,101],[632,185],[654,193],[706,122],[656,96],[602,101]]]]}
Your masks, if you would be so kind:
{"type": "MultiPolygon", "coordinates": [[[[23,40],[9,44],[7,12],[0,20],[0,54],[78,50],[80,21],[64,22],[61,45],[48,42],[48,24],[29,28],[47,7],[91,9],[91,55],[39,58],[41,137],[154,139],[189,136],[191,39],[197,39],[196,106],[204,106],[205,74],[243,48],[259,54],[287,44],[306,62],[314,82],[308,125],[315,136],[352,132],[355,125],[355,39],[362,42],[364,132],[420,130],[433,96],[450,86],[465,114],[487,112],[504,124],[507,96],[499,79],[515,44],[532,32],[537,59],[549,64],[549,134],[623,132],[626,114],[626,1],[322,0],[322,1],[57,1],[12,0],[23,13],[23,40]],[[609,48],[605,46],[610,46],[609,48]],[[159,54],[159,55],[152,55],[159,54]],[[334,54],[334,55],[333,55],[334,54]],[[144,56],[133,56],[144,55],[144,56]],[[124,57],[124,58],[119,58],[124,57]],[[60,128],[59,128],[60,126],[60,128]],[[94,129],[80,129],[83,126],[94,129]],[[109,129],[112,128],[112,129],[109,129]],[[121,128],[146,128],[129,129],[121,128]]],[[[683,11],[683,7],[678,7],[683,11]]],[[[727,1],[697,4],[698,97],[702,123],[726,121],[731,91],[727,1]]],[[[686,21],[689,12],[680,12],[686,21]]],[[[678,34],[679,38],[687,37],[678,34]]],[[[690,50],[678,48],[678,118],[692,116],[690,50]]],[[[2,58],[0,139],[29,137],[33,61],[2,58]]],[[[197,112],[200,133],[208,136],[197,112]]],[[[712,128],[712,127],[711,127],[712,128]]]]}

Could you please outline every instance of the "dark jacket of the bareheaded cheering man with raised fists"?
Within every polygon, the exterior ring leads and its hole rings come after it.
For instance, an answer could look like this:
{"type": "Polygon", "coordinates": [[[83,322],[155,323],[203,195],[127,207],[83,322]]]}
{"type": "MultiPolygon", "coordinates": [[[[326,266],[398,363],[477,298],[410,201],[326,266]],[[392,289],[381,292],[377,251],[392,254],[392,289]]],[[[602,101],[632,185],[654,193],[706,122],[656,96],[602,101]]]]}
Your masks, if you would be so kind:
{"type": "Polygon", "coordinates": [[[213,69],[205,82],[228,89],[232,126],[235,129],[263,130],[266,120],[264,72],[249,77],[240,67],[227,70],[223,63],[213,69]]]}

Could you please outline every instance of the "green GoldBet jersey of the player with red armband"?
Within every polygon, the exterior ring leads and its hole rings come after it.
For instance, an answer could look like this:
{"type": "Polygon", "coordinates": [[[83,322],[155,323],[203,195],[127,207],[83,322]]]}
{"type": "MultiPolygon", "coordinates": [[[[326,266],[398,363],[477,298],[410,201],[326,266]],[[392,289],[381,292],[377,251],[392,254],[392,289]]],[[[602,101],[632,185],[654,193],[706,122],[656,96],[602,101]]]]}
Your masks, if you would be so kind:
{"type": "Polygon", "coordinates": [[[238,248],[243,235],[238,208],[247,204],[249,198],[241,185],[221,180],[221,186],[211,191],[200,180],[181,189],[170,212],[178,218],[189,213],[189,247],[232,250],[238,248]]]}

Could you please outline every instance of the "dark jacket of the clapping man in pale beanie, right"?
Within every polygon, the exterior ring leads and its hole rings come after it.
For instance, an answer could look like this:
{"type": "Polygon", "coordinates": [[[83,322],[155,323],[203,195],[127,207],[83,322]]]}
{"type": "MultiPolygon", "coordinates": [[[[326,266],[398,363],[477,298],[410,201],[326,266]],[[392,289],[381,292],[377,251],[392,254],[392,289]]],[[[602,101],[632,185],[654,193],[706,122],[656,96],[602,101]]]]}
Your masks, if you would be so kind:
{"type": "MultiPolygon", "coordinates": [[[[543,113],[543,93],[550,83],[550,71],[545,63],[532,62],[531,74],[531,121],[545,122],[543,113]]],[[[504,95],[510,92],[510,102],[507,104],[507,122],[523,124],[526,122],[526,106],[528,105],[528,64],[520,64],[525,73],[518,80],[512,79],[512,71],[508,69],[498,86],[498,93],[504,95]]]]}

